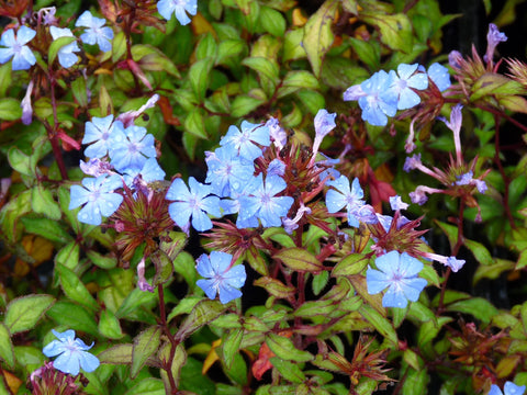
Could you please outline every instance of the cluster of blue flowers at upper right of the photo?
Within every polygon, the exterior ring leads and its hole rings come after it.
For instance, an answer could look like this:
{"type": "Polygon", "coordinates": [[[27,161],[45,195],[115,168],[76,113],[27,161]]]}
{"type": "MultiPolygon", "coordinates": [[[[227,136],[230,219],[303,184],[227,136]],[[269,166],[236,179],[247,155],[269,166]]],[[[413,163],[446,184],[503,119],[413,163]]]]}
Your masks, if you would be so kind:
{"type": "Polygon", "coordinates": [[[380,70],[360,84],[344,92],[345,101],[359,102],[362,120],[374,126],[388,124],[388,117],[397,110],[407,110],[421,103],[417,93],[428,88],[431,81],[439,91],[450,87],[448,69],[433,64],[428,70],[417,64],[397,66],[397,71],[380,70]]]}

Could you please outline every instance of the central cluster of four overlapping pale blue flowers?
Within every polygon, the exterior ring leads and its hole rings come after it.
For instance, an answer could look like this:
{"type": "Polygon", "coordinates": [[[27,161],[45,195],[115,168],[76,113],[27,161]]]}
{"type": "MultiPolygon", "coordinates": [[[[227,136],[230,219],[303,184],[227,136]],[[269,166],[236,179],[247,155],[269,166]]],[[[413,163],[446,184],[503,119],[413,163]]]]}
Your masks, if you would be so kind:
{"type": "Polygon", "coordinates": [[[206,183],[190,178],[190,190],[181,179],[170,185],[167,200],[172,201],[169,212],[173,222],[186,232],[190,223],[205,232],[213,226],[206,214],[237,214],[238,228],[281,226],[293,198],[281,195],[287,183],[280,161],[269,166],[266,177],[255,174],[255,161],[262,156],[262,147],[270,144],[267,125],[244,121],[240,129],[231,126],[221,147],[206,153],[206,183]]]}

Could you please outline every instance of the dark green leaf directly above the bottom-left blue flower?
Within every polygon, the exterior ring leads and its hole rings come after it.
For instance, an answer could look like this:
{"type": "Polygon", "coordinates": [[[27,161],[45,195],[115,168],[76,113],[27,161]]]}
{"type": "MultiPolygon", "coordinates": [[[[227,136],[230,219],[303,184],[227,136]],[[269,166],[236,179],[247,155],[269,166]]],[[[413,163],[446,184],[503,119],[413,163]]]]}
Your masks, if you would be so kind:
{"type": "Polygon", "coordinates": [[[58,325],[99,336],[93,314],[76,303],[58,301],[47,311],[46,315],[58,325]]]}

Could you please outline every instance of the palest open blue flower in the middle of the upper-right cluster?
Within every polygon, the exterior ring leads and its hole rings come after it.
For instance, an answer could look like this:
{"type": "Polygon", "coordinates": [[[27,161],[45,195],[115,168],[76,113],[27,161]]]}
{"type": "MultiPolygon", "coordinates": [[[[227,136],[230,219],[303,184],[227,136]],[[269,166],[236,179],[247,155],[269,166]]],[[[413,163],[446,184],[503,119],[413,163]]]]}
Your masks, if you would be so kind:
{"type": "Polygon", "coordinates": [[[397,66],[399,77],[392,81],[391,89],[399,98],[397,110],[407,110],[421,103],[421,98],[413,89],[423,90],[428,88],[428,77],[417,71],[417,64],[397,66]]]}

